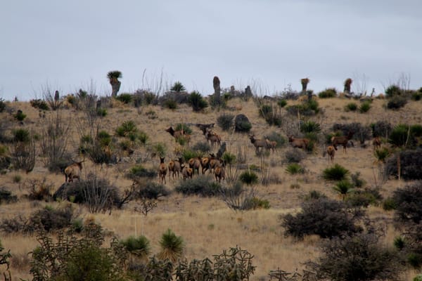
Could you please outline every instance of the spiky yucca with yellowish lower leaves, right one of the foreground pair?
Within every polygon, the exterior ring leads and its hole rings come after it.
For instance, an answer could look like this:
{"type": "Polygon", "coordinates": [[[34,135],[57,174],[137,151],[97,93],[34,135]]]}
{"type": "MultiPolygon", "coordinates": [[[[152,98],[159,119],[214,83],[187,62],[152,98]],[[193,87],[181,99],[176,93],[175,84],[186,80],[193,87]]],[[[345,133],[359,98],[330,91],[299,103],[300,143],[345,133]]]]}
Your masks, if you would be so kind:
{"type": "Polygon", "coordinates": [[[159,243],[161,251],[158,253],[158,259],[168,259],[174,263],[183,256],[184,240],[181,236],[174,234],[170,228],[162,234],[159,243]]]}

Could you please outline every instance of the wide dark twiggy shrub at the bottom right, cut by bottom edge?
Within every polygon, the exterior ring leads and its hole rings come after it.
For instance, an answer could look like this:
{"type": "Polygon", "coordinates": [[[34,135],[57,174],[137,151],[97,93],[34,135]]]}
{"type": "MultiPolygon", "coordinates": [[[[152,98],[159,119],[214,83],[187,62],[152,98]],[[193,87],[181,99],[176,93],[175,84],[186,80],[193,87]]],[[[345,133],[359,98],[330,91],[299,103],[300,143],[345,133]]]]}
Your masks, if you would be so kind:
{"type": "Polygon", "coordinates": [[[397,252],[374,233],[326,240],[321,256],[307,268],[333,281],[399,280],[404,270],[397,252]]]}

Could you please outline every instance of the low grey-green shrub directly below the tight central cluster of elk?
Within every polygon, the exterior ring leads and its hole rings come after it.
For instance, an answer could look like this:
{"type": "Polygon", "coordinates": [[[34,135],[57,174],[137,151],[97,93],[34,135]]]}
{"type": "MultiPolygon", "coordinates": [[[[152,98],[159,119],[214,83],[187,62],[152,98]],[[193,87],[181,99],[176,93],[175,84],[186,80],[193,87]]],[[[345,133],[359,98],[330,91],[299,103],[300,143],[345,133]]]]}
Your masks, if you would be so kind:
{"type": "Polygon", "coordinates": [[[174,190],[184,195],[211,197],[219,195],[221,185],[216,183],[211,176],[198,175],[189,181],[179,181],[174,190]]]}

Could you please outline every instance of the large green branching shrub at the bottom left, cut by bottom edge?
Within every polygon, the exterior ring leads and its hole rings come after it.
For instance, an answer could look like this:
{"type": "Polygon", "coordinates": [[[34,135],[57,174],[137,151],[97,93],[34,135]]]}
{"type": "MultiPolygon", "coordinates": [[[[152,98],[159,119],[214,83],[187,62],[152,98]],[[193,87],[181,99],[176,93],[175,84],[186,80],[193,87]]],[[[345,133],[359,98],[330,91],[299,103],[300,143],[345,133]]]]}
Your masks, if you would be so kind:
{"type": "Polygon", "coordinates": [[[127,252],[115,239],[110,247],[102,247],[101,226],[89,224],[82,236],[60,231],[54,240],[41,233],[37,240],[39,246],[30,253],[34,280],[129,280],[124,274],[127,252]]]}

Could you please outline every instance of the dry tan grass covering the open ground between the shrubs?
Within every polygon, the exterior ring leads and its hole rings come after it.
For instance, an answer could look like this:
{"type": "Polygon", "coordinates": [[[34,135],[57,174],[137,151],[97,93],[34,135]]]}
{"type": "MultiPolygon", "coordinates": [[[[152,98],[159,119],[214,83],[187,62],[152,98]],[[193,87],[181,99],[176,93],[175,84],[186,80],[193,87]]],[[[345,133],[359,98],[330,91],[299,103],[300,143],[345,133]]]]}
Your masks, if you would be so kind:
{"type": "MultiPolygon", "coordinates": [[[[289,104],[292,102],[288,102],[289,104]]],[[[323,108],[323,115],[314,117],[314,121],[321,124],[321,129],[328,132],[333,123],[350,123],[360,122],[369,124],[378,120],[388,121],[391,124],[401,122],[408,124],[421,123],[422,110],[421,102],[408,103],[404,109],[399,111],[386,111],[383,105],[385,100],[374,100],[371,110],[366,114],[358,112],[345,112],[343,108],[350,100],[345,98],[328,98],[320,99],[319,105],[323,108]]],[[[252,132],[255,136],[261,137],[272,131],[281,133],[286,137],[286,131],[282,131],[276,127],[269,127],[264,119],[258,115],[258,110],[252,100],[243,102],[239,100],[230,100],[229,106],[237,106],[240,111],[234,114],[243,113],[252,122],[252,132]]],[[[25,127],[39,131],[43,124],[43,119],[39,117],[38,110],[30,106],[30,103],[11,103],[16,109],[21,109],[27,115],[25,119],[25,127]]],[[[62,110],[66,118],[78,115],[82,117],[80,112],[75,110],[62,110]]],[[[174,138],[165,131],[169,126],[175,126],[178,123],[211,123],[216,122],[217,117],[225,111],[214,112],[207,109],[205,113],[193,112],[191,107],[181,105],[177,110],[165,110],[156,106],[143,107],[141,111],[134,107],[119,105],[108,109],[108,115],[101,122],[102,129],[113,134],[117,126],[127,120],[133,120],[138,129],[145,131],[150,137],[150,144],[165,143],[167,146],[167,157],[175,158],[175,149],[177,145],[174,138]],[[148,119],[146,112],[155,111],[158,118],[148,119]]],[[[228,113],[228,112],[227,112],[228,113]]],[[[233,113],[233,112],[230,112],[233,113]]],[[[51,115],[52,112],[46,112],[51,115]]],[[[1,113],[1,119],[10,119],[6,112],[1,113]]],[[[294,118],[293,118],[294,120],[294,118]]],[[[75,124],[72,124],[75,125],[75,124]]],[[[17,126],[17,125],[16,125],[17,126]]],[[[205,137],[195,126],[193,130],[191,145],[198,141],[205,141],[205,137]]],[[[247,135],[235,134],[221,131],[218,127],[216,131],[222,136],[222,141],[226,141],[227,150],[234,155],[238,152],[238,147],[243,148],[249,164],[260,166],[260,158],[255,156],[255,148],[249,141],[247,135]]],[[[80,132],[77,126],[72,126],[72,138],[70,140],[70,150],[76,151],[79,145],[80,132]]],[[[319,190],[324,192],[328,197],[338,198],[332,191],[332,183],[326,183],[322,178],[322,170],[329,166],[326,157],[322,157],[324,147],[321,145],[316,148],[312,155],[302,161],[305,167],[305,174],[290,176],[286,173],[286,164],[282,163],[284,152],[289,148],[288,144],[279,149],[275,153],[271,153],[264,159],[269,169],[271,177],[277,178],[278,183],[271,183],[267,186],[257,186],[257,191],[265,200],[269,200],[271,208],[268,210],[246,211],[235,213],[231,211],[222,200],[215,198],[203,197],[184,197],[182,195],[172,193],[169,197],[163,198],[158,202],[158,207],[153,209],[148,216],[143,216],[134,211],[136,203],[132,202],[120,211],[113,211],[108,214],[88,214],[86,209],[79,209],[81,216],[84,218],[92,217],[104,228],[113,231],[117,237],[125,238],[129,235],[146,235],[151,240],[153,253],[158,253],[158,240],[162,233],[171,228],[174,233],[181,235],[186,242],[185,256],[188,259],[203,259],[206,256],[211,257],[213,254],[219,254],[223,249],[236,247],[236,245],[247,249],[255,257],[253,264],[257,266],[253,280],[265,277],[269,270],[281,268],[283,270],[295,270],[302,268],[302,263],[308,259],[314,259],[319,255],[319,238],[307,237],[305,240],[297,242],[290,237],[283,236],[283,229],[280,224],[279,216],[288,212],[296,211],[302,202],[302,196],[306,195],[310,190],[319,190]],[[271,164],[272,163],[272,164],[271,164]],[[298,188],[290,188],[295,184],[298,188]]],[[[75,156],[77,156],[75,154],[75,156]]],[[[157,169],[160,160],[158,157],[148,158],[146,148],[139,147],[132,156],[131,163],[120,163],[114,166],[104,166],[103,169],[99,165],[90,162],[84,163],[82,173],[95,171],[96,174],[106,177],[110,183],[117,185],[119,188],[127,188],[131,181],[124,178],[124,173],[130,169],[137,158],[146,159],[143,163],[146,168],[157,169]]],[[[360,172],[367,185],[381,186],[381,193],[386,197],[391,194],[397,186],[403,185],[398,181],[387,181],[382,183],[378,178],[378,166],[374,163],[375,157],[372,154],[371,145],[368,148],[355,148],[347,150],[347,154],[338,151],[335,155],[334,162],[347,167],[352,173],[360,172]]],[[[25,174],[20,171],[9,174],[0,175],[0,183],[6,186],[20,198],[15,204],[2,204],[0,206],[1,218],[11,218],[15,214],[23,214],[28,216],[35,208],[44,206],[45,204],[60,204],[39,202],[34,204],[28,202],[23,196],[27,195],[25,190],[25,182],[34,179],[42,180],[46,178],[46,182],[52,183],[57,189],[63,182],[63,174],[51,174],[37,159],[34,171],[25,174]],[[22,177],[20,183],[13,181],[13,176],[19,174],[22,177]]],[[[158,178],[156,179],[158,181],[158,178]]],[[[170,190],[174,189],[174,183],[167,183],[170,190]]],[[[54,190],[53,190],[54,191],[54,190]]],[[[391,244],[397,235],[397,230],[391,226],[391,213],[385,213],[379,207],[370,207],[368,210],[372,218],[385,225],[385,243],[391,244]]],[[[28,259],[26,254],[37,245],[34,237],[11,235],[2,236],[1,242],[6,249],[11,249],[13,254],[12,260],[12,276],[13,280],[19,278],[30,279],[28,274],[28,259]]],[[[406,280],[411,280],[407,277],[406,280]]]]}

